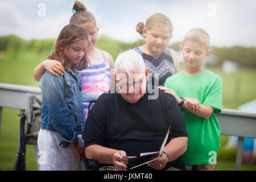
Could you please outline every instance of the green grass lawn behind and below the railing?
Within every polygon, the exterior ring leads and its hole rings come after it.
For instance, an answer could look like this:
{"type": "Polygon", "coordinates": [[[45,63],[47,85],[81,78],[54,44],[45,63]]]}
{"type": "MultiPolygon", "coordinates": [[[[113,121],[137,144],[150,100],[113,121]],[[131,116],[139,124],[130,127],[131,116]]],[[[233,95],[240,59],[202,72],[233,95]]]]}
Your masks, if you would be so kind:
{"type": "MultiPolygon", "coordinates": [[[[18,53],[13,57],[0,57],[0,82],[19,85],[38,86],[33,78],[33,71],[40,61],[46,59],[47,54],[18,53]]],[[[181,65],[182,69],[182,65],[181,65]]],[[[227,74],[220,68],[207,68],[222,77],[223,101],[222,105],[230,109],[238,109],[238,106],[256,98],[256,72],[254,70],[242,69],[237,73],[227,74]],[[238,81],[237,81],[238,80],[238,81]]],[[[2,96],[0,96],[2,97],[2,96]]],[[[1,138],[0,138],[0,169],[12,170],[17,151],[19,131],[19,110],[3,109],[1,138]]],[[[227,136],[221,135],[221,152],[227,136]]],[[[224,152],[225,153],[225,152],[224,152]]],[[[233,155],[234,152],[223,155],[233,155]]],[[[223,156],[222,155],[222,156],[223,156]]],[[[234,170],[235,161],[217,158],[216,170],[234,170]]],[[[34,146],[27,145],[26,155],[27,170],[36,170],[36,158],[34,146]]],[[[256,170],[256,165],[242,164],[242,170],[256,170]]]]}

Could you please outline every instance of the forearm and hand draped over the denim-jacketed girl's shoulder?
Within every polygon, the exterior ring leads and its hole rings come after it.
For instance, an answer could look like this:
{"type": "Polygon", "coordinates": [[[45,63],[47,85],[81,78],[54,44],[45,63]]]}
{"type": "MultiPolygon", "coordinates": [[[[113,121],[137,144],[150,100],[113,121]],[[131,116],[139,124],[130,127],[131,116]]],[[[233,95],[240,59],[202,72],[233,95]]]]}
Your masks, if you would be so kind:
{"type": "Polygon", "coordinates": [[[44,60],[34,69],[34,78],[39,81],[45,71],[52,73],[54,76],[65,74],[65,69],[60,61],[44,60]]]}

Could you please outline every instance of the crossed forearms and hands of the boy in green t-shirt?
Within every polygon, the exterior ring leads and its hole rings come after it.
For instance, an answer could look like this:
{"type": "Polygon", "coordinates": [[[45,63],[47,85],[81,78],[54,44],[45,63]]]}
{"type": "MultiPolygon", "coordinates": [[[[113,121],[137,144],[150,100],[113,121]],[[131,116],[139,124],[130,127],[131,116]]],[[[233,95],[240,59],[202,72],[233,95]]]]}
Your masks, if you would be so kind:
{"type": "MultiPolygon", "coordinates": [[[[181,103],[181,98],[177,96],[177,94],[174,92],[174,90],[171,90],[169,88],[166,88],[164,86],[159,86],[161,90],[164,90],[165,93],[170,94],[173,96],[177,102],[177,104],[181,103]]],[[[208,105],[200,104],[200,102],[196,98],[189,98],[185,97],[184,104],[182,106],[184,109],[188,110],[189,112],[198,115],[202,118],[209,118],[210,115],[213,113],[213,107],[208,105]]]]}

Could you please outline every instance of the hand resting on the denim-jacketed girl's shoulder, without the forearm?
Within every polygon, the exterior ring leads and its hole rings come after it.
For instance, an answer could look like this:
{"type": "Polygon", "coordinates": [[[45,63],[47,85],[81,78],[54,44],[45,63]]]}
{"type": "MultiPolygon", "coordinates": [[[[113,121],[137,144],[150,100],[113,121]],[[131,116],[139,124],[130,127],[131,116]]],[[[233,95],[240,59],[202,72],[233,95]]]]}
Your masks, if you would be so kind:
{"type": "Polygon", "coordinates": [[[54,76],[66,74],[63,65],[57,60],[46,60],[44,68],[54,76]]]}

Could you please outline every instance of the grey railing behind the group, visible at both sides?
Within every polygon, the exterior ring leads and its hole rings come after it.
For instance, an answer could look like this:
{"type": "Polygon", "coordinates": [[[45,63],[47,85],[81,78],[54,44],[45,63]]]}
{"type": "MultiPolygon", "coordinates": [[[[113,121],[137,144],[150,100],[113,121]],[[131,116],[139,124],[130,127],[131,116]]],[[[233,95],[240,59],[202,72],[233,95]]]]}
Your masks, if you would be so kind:
{"type": "MultiPolygon", "coordinates": [[[[28,94],[35,94],[38,98],[42,97],[41,90],[38,87],[0,83],[0,136],[2,108],[8,107],[26,110],[28,94]]],[[[239,137],[235,169],[240,170],[243,138],[256,138],[256,114],[233,109],[224,109],[221,113],[216,114],[216,117],[220,123],[222,135],[239,137]]]]}

